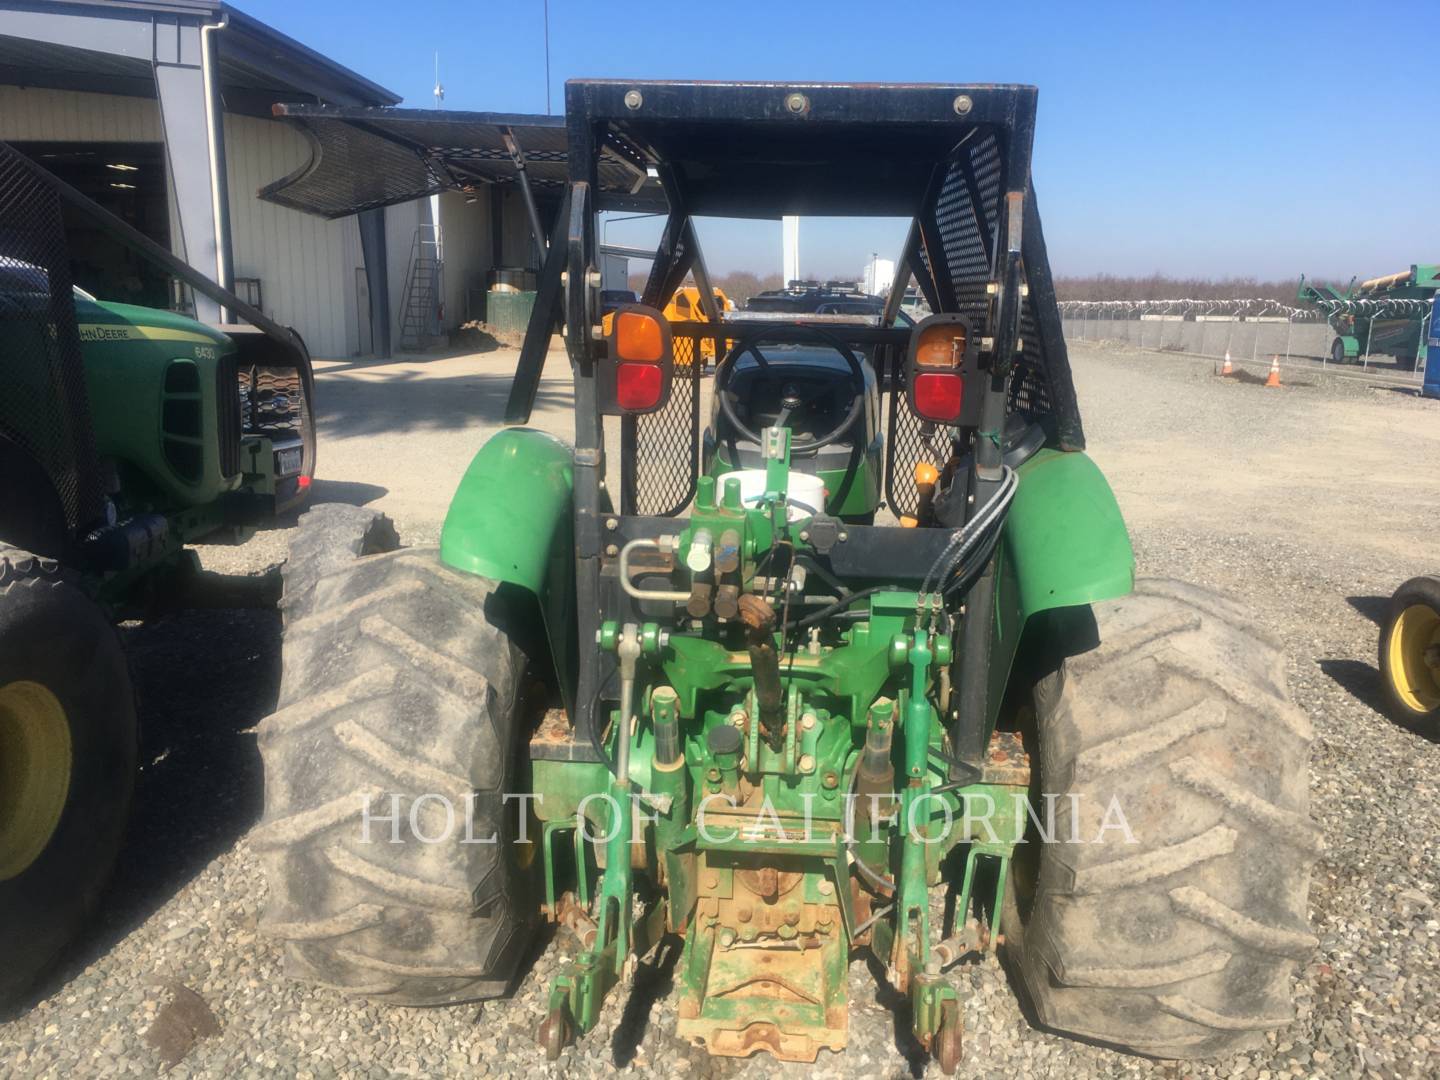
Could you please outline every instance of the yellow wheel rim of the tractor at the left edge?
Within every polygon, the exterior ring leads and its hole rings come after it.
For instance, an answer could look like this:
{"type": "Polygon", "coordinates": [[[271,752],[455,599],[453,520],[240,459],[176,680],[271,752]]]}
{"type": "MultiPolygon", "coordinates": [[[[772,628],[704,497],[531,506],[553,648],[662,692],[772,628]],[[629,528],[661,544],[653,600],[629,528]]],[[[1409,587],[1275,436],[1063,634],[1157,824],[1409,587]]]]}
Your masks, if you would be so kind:
{"type": "Polygon", "coordinates": [[[0,685],[0,881],[40,857],[71,793],[71,726],[45,685],[0,685]]]}

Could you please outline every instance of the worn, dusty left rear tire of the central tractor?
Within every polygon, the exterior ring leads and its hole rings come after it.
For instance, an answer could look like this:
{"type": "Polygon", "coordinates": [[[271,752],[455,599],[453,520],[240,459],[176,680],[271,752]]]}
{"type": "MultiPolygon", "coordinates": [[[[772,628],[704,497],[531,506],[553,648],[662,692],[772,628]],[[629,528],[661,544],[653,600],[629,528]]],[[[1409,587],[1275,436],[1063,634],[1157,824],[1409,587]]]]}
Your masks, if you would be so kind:
{"type": "Polygon", "coordinates": [[[494,586],[376,553],[395,543],[374,511],[300,520],[251,840],[289,975],[441,1005],[503,994],[536,924],[540,861],[503,799],[528,791],[531,698],[494,586]]]}

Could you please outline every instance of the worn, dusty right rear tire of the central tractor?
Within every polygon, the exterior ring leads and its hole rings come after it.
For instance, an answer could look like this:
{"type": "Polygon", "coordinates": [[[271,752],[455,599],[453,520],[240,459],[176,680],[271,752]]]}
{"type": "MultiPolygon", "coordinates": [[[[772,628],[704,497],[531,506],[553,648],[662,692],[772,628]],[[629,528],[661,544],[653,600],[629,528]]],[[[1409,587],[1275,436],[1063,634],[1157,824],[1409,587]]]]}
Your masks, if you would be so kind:
{"type": "Polygon", "coordinates": [[[1155,1057],[1244,1050],[1290,1022],[1316,948],[1309,719],[1277,642],[1224,596],[1142,580],[1093,615],[1099,645],[1034,687],[1056,842],[1017,851],[1009,958],[1047,1027],[1155,1057]],[[1135,842],[1096,842],[1112,806],[1135,842]]]}

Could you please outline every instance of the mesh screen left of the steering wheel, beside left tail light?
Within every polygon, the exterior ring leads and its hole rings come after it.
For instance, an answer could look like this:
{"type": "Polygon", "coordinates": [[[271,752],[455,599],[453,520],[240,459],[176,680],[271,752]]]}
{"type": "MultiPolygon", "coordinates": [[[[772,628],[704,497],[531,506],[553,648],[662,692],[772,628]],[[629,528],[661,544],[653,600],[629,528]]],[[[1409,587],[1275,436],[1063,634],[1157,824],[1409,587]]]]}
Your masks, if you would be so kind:
{"type": "Polygon", "coordinates": [[[670,400],[644,416],[622,420],[626,441],[622,452],[626,513],[671,517],[690,505],[700,469],[700,382],[714,346],[690,336],[677,336],[675,372],[670,400]]]}

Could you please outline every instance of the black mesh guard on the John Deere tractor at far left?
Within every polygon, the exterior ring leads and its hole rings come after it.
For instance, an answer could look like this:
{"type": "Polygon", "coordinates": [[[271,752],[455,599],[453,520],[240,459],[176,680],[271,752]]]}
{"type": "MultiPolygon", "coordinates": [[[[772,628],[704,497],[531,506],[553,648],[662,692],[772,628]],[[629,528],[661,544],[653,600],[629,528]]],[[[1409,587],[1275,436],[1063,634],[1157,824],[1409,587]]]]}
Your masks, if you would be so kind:
{"type": "Polygon", "coordinates": [[[0,436],[49,477],[75,531],[99,517],[71,262],[59,196],[0,143],[0,436]]]}

